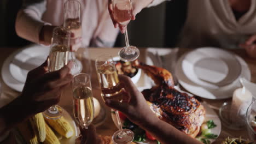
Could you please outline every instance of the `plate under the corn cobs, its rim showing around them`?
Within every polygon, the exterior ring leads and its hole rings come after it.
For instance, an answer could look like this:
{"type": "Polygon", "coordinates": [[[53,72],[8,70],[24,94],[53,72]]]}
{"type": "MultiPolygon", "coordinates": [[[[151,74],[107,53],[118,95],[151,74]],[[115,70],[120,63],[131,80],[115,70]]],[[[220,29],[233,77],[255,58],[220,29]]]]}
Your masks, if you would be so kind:
{"type": "MultiPolygon", "coordinates": [[[[74,130],[74,135],[72,137],[70,137],[69,139],[66,139],[65,137],[63,136],[60,136],[60,134],[58,134],[56,131],[55,134],[56,136],[59,138],[60,140],[60,143],[61,144],[69,144],[69,143],[75,143],[75,139],[77,139],[78,137],[78,129],[77,129],[77,125],[75,124],[75,122],[73,121],[72,117],[69,115],[69,113],[63,109],[63,117],[66,118],[66,120],[71,124],[73,130],[74,130]]],[[[21,139],[21,135],[19,134],[19,131],[18,129],[13,129],[13,133],[15,135],[15,139],[17,141],[18,144],[24,144],[22,143],[22,139],[21,139]]]]}

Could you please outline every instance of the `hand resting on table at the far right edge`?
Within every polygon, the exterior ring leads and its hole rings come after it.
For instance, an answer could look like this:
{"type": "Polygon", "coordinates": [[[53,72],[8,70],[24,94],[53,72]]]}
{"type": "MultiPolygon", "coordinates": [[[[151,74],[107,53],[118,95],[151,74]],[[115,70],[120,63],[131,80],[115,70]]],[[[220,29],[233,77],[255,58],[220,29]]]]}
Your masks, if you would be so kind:
{"type": "Polygon", "coordinates": [[[250,57],[256,58],[256,34],[246,40],[244,44],[240,44],[240,47],[245,49],[250,57]]]}

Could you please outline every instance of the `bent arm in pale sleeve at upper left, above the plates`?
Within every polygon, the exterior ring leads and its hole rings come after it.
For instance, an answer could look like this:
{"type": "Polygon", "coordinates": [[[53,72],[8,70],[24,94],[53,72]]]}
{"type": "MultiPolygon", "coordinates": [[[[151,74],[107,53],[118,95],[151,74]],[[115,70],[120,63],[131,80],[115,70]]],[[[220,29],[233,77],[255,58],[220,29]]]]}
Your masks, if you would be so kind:
{"type": "Polygon", "coordinates": [[[16,17],[17,35],[34,43],[49,45],[54,26],[41,20],[45,10],[45,0],[24,0],[16,17]]]}

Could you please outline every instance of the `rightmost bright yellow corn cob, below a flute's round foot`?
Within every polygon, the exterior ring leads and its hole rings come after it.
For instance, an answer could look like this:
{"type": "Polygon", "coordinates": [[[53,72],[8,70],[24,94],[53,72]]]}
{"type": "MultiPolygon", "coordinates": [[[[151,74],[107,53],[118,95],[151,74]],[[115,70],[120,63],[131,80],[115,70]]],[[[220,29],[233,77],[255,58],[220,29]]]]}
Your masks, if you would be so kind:
{"type": "Polygon", "coordinates": [[[45,118],[45,121],[60,135],[65,136],[67,139],[74,134],[72,126],[67,122],[64,117],[61,117],[59,119],[45,118]]]}

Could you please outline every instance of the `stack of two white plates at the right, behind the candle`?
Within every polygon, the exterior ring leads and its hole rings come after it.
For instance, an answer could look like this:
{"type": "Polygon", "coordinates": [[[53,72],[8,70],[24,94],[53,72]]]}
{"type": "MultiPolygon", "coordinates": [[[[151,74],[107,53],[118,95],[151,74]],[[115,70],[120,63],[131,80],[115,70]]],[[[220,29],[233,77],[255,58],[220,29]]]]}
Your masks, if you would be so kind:
{"type": "Polygon", "coordinates": [[[251,80],[243,59],[215,47],[202,47],[184,54],[178,61],[176,76],[187,91],[207,99],[232,97],[239,79],[251,80]]]}

